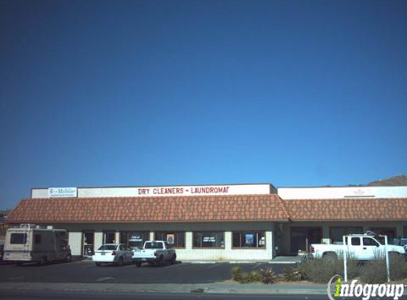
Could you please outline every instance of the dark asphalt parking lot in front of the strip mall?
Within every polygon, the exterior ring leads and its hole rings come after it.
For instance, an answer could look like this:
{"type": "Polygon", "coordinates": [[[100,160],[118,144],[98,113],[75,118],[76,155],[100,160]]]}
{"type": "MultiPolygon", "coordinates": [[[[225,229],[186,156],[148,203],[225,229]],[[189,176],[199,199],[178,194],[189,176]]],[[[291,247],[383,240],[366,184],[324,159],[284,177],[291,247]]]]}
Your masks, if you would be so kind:
{"type": "MultiPolygon", "coordinates": [[[[211,283],[230,279],[230,269],[237,264],[217,262],[212,264],[192,264],[177,262],[163,267],[134,264],[116,267],[103,265],[97,267],[91,261],[76,261],[55,264],[15,264],[0,265],[0,282],[65,282],[65,283],[211,283]]],[[[293,264],[253,263],[239,264],[245,271],[271,266],[277,273],[293,264]]]]}

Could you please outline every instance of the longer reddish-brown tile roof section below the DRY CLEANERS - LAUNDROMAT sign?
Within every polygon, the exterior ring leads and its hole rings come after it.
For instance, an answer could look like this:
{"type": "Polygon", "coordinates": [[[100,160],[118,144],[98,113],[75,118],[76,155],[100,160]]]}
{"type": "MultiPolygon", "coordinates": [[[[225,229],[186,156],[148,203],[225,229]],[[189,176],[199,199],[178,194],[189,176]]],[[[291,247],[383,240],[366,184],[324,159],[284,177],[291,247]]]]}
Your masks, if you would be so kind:
{"type": "Polygon", "coordinates": [[[23,199],[7,223],[288,220],[278,195],[23,199]]]}

